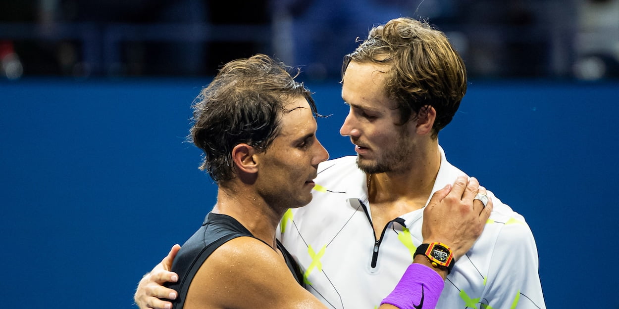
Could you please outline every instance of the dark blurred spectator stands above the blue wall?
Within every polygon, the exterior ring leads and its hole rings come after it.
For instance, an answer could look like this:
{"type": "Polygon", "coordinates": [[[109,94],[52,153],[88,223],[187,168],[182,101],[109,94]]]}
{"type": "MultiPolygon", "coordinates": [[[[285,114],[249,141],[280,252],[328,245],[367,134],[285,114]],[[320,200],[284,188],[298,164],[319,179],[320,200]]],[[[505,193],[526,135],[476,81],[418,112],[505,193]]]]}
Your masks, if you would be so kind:
{"type": "Polygon", "coordinates": [[[338,78],[399,16],[445,32],[472,78],[619,77],[619,0],[2,0],[0,78],[207,76],[256,53],[338,78]]]}

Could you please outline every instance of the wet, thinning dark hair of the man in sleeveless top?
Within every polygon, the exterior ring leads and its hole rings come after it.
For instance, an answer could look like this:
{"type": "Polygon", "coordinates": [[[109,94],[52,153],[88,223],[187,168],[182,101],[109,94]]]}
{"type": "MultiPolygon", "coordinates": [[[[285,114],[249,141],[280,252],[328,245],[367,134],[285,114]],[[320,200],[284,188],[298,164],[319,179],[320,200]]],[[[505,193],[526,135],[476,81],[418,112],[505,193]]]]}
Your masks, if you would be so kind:
{"type": "Polygon", "coordinates": [[[296,82],[283,62],[258,54],[228,62],[194,100],[189,137],[204,151],[200,169],[215,182],[235,177],[232,150],[246,143],[266,151],[279,132],[284,107],[305,98],[316,113],[311,93],[296,82]]]}

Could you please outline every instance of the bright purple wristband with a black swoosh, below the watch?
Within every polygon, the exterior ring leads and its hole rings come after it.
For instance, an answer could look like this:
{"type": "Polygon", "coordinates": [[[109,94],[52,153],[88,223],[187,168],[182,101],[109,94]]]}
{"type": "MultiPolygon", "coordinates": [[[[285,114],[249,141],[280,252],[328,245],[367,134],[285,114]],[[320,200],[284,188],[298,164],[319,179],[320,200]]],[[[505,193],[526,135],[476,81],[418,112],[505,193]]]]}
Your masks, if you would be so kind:
{"type": "Polygon", "coordinates": [[[443,277],[434,269],[411,264],[381,305],[388,303],[400,309],[434,309],[444,286],[443,277]]]}

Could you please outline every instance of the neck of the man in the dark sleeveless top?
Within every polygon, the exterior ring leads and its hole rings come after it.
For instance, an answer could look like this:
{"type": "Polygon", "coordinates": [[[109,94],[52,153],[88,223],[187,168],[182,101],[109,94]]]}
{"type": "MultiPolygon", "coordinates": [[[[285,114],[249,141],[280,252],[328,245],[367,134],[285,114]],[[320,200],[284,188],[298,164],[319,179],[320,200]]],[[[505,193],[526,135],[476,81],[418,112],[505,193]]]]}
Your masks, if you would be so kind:
{"type": "Polygon", "coordinates": [[[285,210],[276,210],[255,192],[238,187],[219,187],[213,213],[227,214],[257,239],[275,248],[275,231],[285,210]]]}

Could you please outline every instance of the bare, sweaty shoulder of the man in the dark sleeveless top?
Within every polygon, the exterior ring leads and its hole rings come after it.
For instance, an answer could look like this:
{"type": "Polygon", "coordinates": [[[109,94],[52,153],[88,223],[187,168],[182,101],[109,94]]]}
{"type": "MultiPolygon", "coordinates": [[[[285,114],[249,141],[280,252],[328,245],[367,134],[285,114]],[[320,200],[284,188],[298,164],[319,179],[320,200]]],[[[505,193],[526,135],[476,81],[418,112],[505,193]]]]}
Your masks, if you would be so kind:
{"type": "MultiPolygon", "coordinates": [[[[238,237],[202,264],[189,286],[184,308],[318,308],[295,281],[285,260],[266,243],[238,237]]],[[[319,303],[316,298],[313,298],[319,303]]]]}

